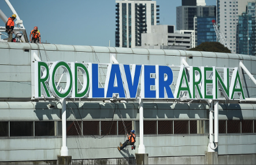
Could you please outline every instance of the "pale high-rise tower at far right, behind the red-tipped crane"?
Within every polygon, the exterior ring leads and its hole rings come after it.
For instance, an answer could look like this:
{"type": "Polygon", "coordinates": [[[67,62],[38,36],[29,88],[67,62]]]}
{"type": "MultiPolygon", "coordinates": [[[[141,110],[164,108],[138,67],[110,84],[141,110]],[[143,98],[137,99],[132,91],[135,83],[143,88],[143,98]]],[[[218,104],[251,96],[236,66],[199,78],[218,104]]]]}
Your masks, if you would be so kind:
{"type": "Polygon", "coordinates": [[[225,39],[229,42],[229,49],[236,53],[236,27],[238,17],[246,11],[248,2],[255,0],[217,0],[217,24],[224,32],[225,39]]]}

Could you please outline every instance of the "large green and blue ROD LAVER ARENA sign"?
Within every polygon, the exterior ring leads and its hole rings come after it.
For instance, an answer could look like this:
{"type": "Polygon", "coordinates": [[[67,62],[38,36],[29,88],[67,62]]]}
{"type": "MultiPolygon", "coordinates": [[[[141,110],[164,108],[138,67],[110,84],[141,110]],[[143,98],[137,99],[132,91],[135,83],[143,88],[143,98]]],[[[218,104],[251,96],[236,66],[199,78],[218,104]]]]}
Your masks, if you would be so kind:
{"type": "Polygon", "coordinates": [[[239,95],[236,99],[245,99],[238,68],[178,66],[173,82],[174,66],[110,63],[105,64],[106,80],[101,86],[99,65],[35,62],[35,98],[220,99],[220,89],[225,99],[234,99],[235,94],[239,95]],[[59,68],[66,75],[65,88],[55,79],[59,68]]]}

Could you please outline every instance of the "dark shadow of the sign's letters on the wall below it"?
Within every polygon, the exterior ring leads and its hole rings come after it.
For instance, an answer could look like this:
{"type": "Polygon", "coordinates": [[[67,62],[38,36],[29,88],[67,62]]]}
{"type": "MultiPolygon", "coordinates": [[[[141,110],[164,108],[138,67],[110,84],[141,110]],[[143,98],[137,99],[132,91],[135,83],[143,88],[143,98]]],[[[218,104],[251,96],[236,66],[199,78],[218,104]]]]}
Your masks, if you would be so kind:
{"type": "MultiPolygon", "coordinates": [[[[203,103],[144,103],[144,118],[207,118],[209,106],[203,103]]],[[[242,108],[239,104],[219,104],[220,115],[225,115],[229,120],[234,117],[243,119],[242,108]]],[[[39,120],[61,119],[61,102],[36,102],[35,114],[39,120]]],[[[99,103],[99,102],[66,102],[66,117],[77,119],[107,119],[137,118],[139,103],[99,103]]]]}

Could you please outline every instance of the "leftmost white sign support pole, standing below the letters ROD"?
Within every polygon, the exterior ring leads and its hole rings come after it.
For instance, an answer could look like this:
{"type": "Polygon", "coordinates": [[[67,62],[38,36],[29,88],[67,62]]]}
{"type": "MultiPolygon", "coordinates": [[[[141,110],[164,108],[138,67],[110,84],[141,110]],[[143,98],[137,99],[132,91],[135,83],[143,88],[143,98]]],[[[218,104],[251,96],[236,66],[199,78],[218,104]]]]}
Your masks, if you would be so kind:
{"type": "Polygon", "coordinates": [[[66,98],[61,99],[62,103],[62,147],[61,156],[68,156],[68,147],[66,147],[66,98]]]}

